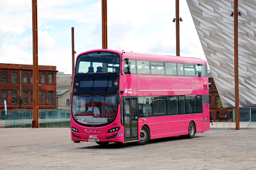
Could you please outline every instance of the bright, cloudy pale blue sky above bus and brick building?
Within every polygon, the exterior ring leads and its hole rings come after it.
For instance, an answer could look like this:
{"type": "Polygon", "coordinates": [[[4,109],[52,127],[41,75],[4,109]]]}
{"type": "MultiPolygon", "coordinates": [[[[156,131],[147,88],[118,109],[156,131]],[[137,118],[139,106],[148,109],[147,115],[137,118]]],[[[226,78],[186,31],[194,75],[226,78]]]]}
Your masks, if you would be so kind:
{"type": "MultiPolygon", "coordinates": [[[[108,0],[108,49],[176,55],[175,1],[108,0]]],[[[32,1],[0,1],[0,63],[33,64],[32,1]]],[[[38,64],[71,74],[75,57],[102,48],[101,0],[38,1],[38,64]]],[[[186,0],[180,0],[180,56],[205,60],[186,0]]]]}

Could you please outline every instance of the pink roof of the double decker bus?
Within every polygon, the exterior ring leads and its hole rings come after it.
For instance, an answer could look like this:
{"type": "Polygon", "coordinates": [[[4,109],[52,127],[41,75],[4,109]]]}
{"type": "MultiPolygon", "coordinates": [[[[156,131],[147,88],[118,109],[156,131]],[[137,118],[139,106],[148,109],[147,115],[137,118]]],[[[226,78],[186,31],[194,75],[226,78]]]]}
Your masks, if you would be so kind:
{"type": "Polygon", "coordinates": [[[118,51],[118,50],[111,50],[111,49],[90,50],[90,51],[83,52],[83,53],[79,54],[78,56],[86,54],[86,53],[96,52],[96,51],[113,52],[113,53],[119,54],[120,56],[124,52],[123,59],[128,58],[128,59],[151,60],[151,61],[177,62],[177,63],[207,64],[207,62],[201,58],[137,53],[137,52],[132,52],[132,51],[118,51]]]}

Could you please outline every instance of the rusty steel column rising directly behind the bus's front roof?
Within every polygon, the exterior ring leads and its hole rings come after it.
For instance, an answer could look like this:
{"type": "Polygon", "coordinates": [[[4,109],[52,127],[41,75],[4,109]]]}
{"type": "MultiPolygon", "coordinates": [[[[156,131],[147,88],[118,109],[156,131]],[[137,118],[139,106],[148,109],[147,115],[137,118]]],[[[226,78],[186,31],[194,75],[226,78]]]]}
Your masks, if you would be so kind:
{"type": "Polygon", "coordinates": [[[101,0],[102,49],[108,49],[107,0],[101,0]]]}

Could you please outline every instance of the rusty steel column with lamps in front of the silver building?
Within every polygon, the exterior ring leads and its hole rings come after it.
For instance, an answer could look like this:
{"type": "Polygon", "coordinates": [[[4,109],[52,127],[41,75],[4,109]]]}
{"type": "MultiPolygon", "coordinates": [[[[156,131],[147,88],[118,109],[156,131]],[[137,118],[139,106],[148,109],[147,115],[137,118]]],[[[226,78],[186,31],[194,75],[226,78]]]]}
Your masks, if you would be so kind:
{"type": "Polygon", "coordinates": [[[234,0],[234,54],[235,54],[235,116],[236,130],[239,130],[239,87],[238,87],[238,3],[234,0]]]}

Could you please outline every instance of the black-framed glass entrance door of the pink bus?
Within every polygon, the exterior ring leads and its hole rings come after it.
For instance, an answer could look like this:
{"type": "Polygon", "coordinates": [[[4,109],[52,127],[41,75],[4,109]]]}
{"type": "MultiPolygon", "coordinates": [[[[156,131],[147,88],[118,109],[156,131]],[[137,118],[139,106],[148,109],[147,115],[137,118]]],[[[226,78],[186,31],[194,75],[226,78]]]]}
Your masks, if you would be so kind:
{"type": "Polygon", "coordinates": [[[138,140],[138,99],[124,97],[124,142],[138,140]]]}

